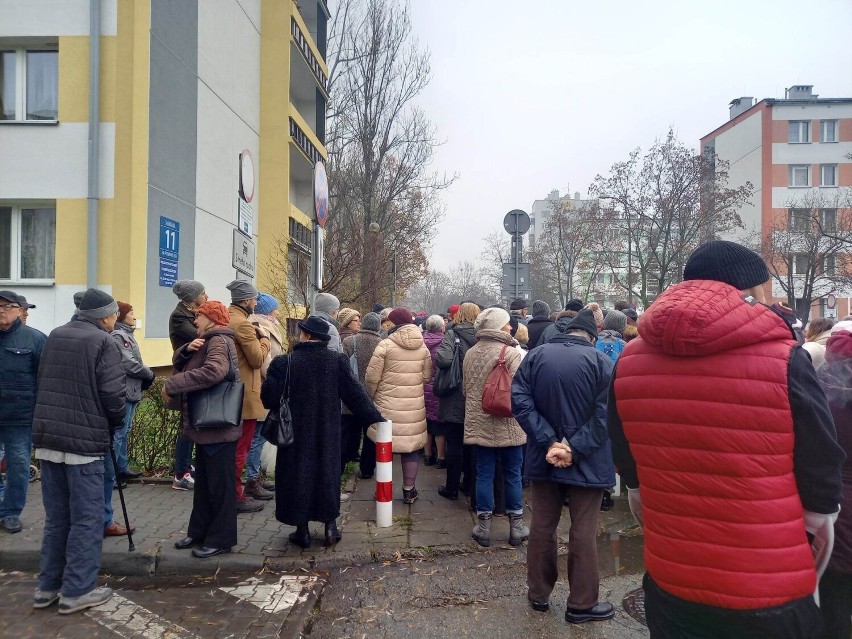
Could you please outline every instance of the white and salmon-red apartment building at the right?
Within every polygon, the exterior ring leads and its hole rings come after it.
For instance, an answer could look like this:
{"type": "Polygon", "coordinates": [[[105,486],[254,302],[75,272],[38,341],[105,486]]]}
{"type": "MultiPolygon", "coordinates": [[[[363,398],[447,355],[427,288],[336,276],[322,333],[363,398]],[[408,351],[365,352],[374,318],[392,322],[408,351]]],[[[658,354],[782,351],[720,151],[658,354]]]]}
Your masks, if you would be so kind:
{"type": "MultiPolygon", "coordinates": [[[[745,229],[728,239],[766,237],[778,229],[779,220],[788,220],[795,228],[799,212],[814,206],[830,227],[850,206],[852,98],[820,98],[811,85],[790,87],[784,99],[755,103],[752,97],[737,98],[730,103],[728,122],[701,138],[700,144],[730,164],[730,186],[746,182],[754,186],[751,202],[740,211],[745,229]]],[[[808,260],[793,256],[795,276],[799,261],[808,260]]],[[[825,265],[826,273],[834,268],[833,263],[825,265]]],[[[849,314],[852,291],[834,290],[832,309],[830,288],[822,285],[812,314],[849,314]]],[[[772,295],[778,301],[787,299],[777,282],[772,295]]]]}

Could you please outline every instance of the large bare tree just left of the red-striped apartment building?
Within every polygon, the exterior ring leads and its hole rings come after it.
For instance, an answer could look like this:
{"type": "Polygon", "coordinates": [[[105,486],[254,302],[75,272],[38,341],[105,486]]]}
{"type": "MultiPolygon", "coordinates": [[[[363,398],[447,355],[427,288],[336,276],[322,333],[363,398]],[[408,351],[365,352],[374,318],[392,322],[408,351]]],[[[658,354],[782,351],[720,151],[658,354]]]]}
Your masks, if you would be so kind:
{"type": "Polygon", "coordinates": [[[590,193],[613,204],[597,209],[598,228],[621,233],[620,241],[609,240],[604,255],[628,296],[647,306],[681,280],[686,259],[701,242],[742,227],[737,211],[753,187],[727,183],[726,162],[711,152],[696,155],[672,130],[644,155],[636,149],[609,175],[595,178],[590,193]]]}

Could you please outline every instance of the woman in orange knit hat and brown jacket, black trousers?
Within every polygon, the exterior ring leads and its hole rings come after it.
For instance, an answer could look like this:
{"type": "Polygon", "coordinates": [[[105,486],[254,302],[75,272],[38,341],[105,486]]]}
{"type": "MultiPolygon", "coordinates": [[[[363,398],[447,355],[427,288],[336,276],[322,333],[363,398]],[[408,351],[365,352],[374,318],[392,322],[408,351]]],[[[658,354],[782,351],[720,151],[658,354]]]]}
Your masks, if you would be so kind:
{"type": "Polygon", "coordinates": [[[231,552],[237,543],[237,480],[234,463],[242,426],[192,428],[187,394],[215,386],[230,373],[239,379],[234,331],[228,328],[228,309],[207,301],[196,310],[198,337],[175,351],[177,371],[163,387],[168,401],[180,396],[181,434],[195,444],[195,492],[186,537],[175,543],[192,548],[195,557],[231,552]]]}

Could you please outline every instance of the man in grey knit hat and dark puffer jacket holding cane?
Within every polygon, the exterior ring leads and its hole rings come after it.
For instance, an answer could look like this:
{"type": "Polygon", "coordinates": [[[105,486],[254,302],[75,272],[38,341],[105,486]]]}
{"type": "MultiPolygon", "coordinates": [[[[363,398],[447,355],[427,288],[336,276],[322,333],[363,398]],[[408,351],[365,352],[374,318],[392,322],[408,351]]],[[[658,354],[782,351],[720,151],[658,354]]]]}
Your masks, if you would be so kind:
{"type": "Polygon", "coordinates": [[[77,319],[54,329],[39,368],[33,443],[41,460],[44,539],[33,606],[69,614],[112,596],[97,588],[104,516],[104,457],[124,423],[126,379],[110,336],[118,304],[97,289],[77,319]]]}

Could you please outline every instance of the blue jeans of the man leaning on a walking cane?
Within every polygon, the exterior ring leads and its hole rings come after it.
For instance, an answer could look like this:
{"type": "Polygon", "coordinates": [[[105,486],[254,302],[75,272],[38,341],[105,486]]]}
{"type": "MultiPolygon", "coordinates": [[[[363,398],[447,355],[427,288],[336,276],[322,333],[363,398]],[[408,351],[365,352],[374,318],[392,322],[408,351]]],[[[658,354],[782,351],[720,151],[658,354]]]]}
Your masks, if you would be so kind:
{"type": "Polygon", "coordinates": [[[44,539],[39,590],[79,597],[94,590],[103,545],[104,464],[41,462],[44,539]]]}

